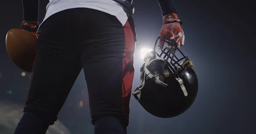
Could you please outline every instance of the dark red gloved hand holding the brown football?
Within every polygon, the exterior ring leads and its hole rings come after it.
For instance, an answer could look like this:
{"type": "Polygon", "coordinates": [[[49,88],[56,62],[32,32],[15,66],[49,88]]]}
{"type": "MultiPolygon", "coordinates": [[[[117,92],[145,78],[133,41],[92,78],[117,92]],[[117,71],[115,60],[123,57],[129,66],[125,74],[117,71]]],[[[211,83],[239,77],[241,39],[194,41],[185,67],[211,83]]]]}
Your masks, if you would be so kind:
{"type": "Polygon", "coordinates": [[[21,29],[31,32],[36,38],[38,38],[38,34],[36,33],[38,30],[38,24],[39,22],[23,20],[21,23],[21,29]]]}

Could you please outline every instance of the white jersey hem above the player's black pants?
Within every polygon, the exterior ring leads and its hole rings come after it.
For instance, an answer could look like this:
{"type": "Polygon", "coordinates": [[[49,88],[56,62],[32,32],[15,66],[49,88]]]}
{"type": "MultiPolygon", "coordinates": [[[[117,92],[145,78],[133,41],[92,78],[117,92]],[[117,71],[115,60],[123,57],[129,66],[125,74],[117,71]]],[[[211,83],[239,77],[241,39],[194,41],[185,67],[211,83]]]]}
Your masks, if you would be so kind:
{"type": "Polygon", "coordinates": [[[99,10],[116,16],[122,25],[125,25],[128,19],[122,5],[113,0],[49,0],[43,22],[52,14],[70,8],[91,8],[99,10]]]}

